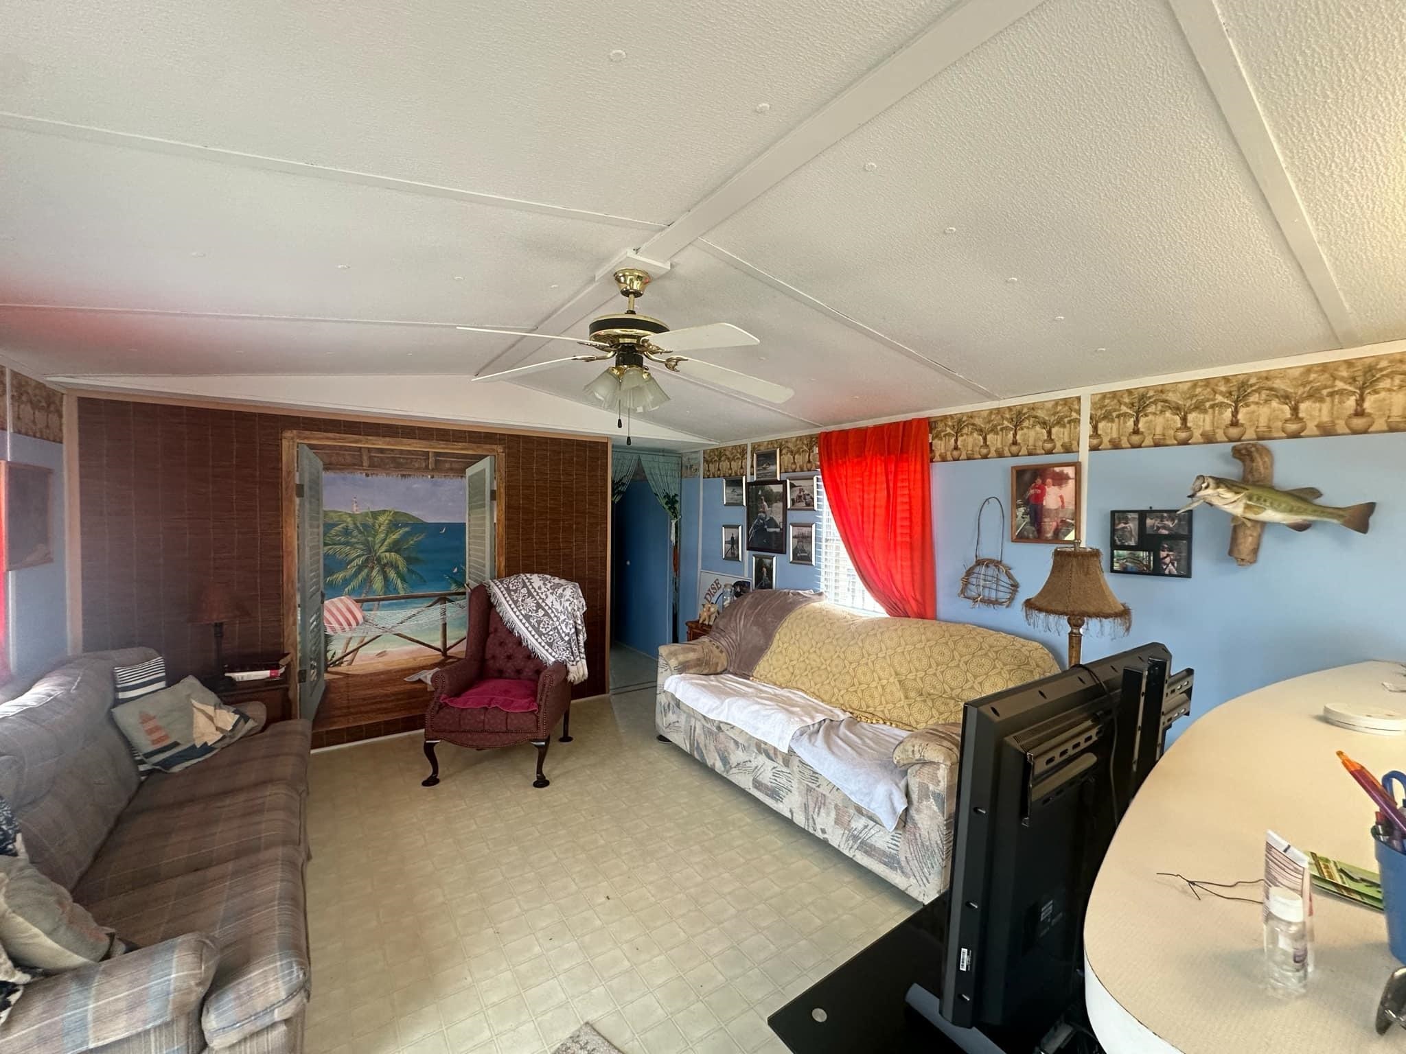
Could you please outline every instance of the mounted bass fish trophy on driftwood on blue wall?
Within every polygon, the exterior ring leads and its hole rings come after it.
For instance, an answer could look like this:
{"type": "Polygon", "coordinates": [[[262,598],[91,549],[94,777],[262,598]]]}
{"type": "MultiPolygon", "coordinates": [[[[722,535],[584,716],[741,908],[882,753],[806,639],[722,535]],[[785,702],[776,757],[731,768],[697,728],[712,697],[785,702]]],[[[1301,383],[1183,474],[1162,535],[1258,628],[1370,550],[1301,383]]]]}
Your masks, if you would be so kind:
{"type": "Polygon", "coordinates": [[[1260,535],[1264,524],[1281,523],[1294,531],[1306,531],[1315,523],[1337,523],[1350,531],[1367,534],[1368,520],[1376,502],[1361,502],[1337,507],[1319,505],[1323,492],[1312,486],[1279,490],[1271,486],[1274,458],[1258,443],[1239,443],[1232,455],[1240,461],[1243,479],[1197,476],[1191,485],[1192,500],[1180,512],[1195,509],[1202,502],[1223,509],[1234,519],[1230,530],[1230,555],[1241,568],[1254,564],[1260,555],[1260,535]]]}

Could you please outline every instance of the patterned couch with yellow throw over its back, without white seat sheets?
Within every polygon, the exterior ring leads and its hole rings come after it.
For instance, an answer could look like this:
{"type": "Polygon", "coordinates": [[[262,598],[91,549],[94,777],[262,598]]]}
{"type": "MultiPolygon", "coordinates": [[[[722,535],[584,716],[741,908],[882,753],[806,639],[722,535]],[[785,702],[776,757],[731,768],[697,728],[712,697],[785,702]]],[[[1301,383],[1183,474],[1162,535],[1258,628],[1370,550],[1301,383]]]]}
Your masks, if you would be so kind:
{"type": "Polygon", "coordinates": [[[709,637],[659,648],[655,725],[661,738],[928,902],[950,874],[962,705],[1057,670],[1042,645],[1010,634],[869,618],[815,593],[763,590],[724,609],[709,637]],[[894,750],[908,788],[898,828],[887,831],[794,753],[681,703],[664,687],[675,673],[734,673],[799,689],[860,721],[908,729],[894,750]]]}

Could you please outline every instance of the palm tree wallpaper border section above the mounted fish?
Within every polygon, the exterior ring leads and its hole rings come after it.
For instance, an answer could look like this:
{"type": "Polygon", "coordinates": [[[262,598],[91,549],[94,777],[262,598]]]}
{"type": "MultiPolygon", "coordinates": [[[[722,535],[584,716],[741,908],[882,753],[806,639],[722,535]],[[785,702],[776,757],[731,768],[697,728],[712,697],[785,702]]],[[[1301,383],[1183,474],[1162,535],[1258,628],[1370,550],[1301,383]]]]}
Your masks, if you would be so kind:
{"type": "Polygon", "coordinates": [[[1406,353],[1101,392],[1090,450],[1406,431],[1406,353]]]}

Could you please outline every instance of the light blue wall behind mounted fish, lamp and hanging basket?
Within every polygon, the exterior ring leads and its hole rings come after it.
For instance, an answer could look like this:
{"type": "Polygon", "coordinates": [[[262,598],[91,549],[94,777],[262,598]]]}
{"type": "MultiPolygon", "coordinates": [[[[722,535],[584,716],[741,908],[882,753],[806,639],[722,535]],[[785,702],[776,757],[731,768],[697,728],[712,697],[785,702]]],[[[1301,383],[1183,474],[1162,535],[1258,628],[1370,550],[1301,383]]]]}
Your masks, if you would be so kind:
{"type": "MultiPolygon", "coordinates": [[[[1316,486],[1329,505],[1376,500],[1371,533],[1316,524],[1295,534],[1270,526],[1258,562],[1240,568],[1226,554],[1230,517],[1201,506],[1194,513],[1192,578],[1109,575],[1114,592],[1133,610],[1133,631],[1128,638],[1090,635],[1084,641],[1085,658],[1146,641],[1166,644],[1178,668],[1197,669],[1192,717],[1310,670],[1362,659],[1406,659],[1406,436],[1299,438],[1268,447],[1279,486],[1316,486]]],[[[1049,458],[932,467],[938,613],[945,620],[1040,639],[1063,661],[1064,635],[1032,630],[1019,610],[1045,582],[1049,547],[1007,542],[1007,562],[1021,582],[1011,609],[973,610],[956,596],[972,559],[981,499],[994,493],[1008,505],[1011,465],[1042,460],[1049,458]]],[[[1239,478],[1230,445],[1094,451],[1088,544],[1102,548],[1107,559],[1111,510],[1180,507],[1199,474],[1239,478]]],[[[997,541],[994,533],[986,537],[997,541]]],[[[983,547],[993,555],[995,548],[983,547]]]]}

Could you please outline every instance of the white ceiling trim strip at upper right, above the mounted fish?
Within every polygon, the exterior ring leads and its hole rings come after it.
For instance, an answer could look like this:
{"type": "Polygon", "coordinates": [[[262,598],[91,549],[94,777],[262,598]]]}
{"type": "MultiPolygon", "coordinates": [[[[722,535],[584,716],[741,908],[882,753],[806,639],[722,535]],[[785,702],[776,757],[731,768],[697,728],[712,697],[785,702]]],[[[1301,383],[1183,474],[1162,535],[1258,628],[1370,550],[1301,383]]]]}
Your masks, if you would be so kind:
{"type": "Polygon", "coordinates": [[[1343,347],[1361,343],[1353,311],[1313,233],[1308,209],[1274,141],[1268,118],[1254,94],[1254,84],[1240,62],[1216,0],[1168,0],[1168,3],[1220,108],[1220,115],[1240,148],[1240,155],[1264,195],[1289,253],[1317,299],[1329,327],[1343,347]]]}

